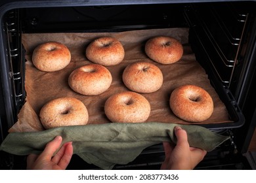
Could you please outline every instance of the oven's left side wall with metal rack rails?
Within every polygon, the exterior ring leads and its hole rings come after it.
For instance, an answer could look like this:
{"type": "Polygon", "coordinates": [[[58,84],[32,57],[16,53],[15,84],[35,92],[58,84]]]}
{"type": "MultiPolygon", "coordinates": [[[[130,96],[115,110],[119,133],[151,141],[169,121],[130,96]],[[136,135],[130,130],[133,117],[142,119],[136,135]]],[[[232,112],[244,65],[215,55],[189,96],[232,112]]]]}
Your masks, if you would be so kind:
{"type": "Polygon", "coordinates": [[[21,43],[19,11],[7,11],[1,19],[1,93],[3,95],[3,110],[1,110],[1,124],[3,135],[7,135],[17,120],[17,114],[24,105],[26,92],[25,59],[21,43]]]}

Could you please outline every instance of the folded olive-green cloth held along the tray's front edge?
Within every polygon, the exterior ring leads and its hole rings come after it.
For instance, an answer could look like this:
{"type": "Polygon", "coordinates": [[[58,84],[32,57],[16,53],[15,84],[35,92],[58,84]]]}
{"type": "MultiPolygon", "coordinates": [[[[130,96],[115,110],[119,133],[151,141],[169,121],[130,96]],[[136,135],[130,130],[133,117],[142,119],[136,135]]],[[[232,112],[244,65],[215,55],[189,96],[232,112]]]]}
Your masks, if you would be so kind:
{"type": "MultiPolygon", "coordinates": [[[[127,164],[154,144],[176,143],[177,124],[150,122],[141,124],[91,124],[56,127],[39,132],[9,133],[0,150],[16,155],[39,154],[47,142],[61,135],[63,142],[72,141],[74,154],[102,169],[127,164]]],[[[211,151],[230,137],[213,133],[199,125],[180,125],[188,134],[190,146],[211,151]]]]}

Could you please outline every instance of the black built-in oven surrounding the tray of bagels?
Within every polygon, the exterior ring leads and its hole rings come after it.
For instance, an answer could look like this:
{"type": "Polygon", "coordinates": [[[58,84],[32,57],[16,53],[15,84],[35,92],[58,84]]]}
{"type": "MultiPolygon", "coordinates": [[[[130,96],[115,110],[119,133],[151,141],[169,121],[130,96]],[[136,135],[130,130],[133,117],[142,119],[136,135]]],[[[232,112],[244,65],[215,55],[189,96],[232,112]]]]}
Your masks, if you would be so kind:
{"type": "MultiPolygon", "coordinates": [[[[133,31],[154,35],[156,30],[181,29],[228,112],[228,122],[198,125],[231,137],[208,152],[196,169],[251,169],[245,154],[256,125],[255,9],[255,1],[1,1],[0,142],[18,121],[28,94],[24,35],[28,40],[53,33],[132,37],[133,31]]],[[[1,152],[0,157],[1,169],[26,169],[26,156],[1,152]]],[[[163,159],[163,147],[157,144],[114,169],[159,169],[163,159]]],[[[74,155],[68,169],[98,167],[74,155]]]]}

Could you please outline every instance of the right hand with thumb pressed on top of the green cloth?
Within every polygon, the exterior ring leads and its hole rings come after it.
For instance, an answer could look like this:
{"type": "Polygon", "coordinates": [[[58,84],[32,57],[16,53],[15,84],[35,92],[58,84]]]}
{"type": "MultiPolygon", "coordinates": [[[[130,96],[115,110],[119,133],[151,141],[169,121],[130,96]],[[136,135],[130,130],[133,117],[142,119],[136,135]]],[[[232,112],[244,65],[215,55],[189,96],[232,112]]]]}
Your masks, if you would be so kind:
{"type": "Polygon", "coordinates": [[[165,160],[161,169],[191,170],[203,160],[206,151],[200,148],[190,147],[186,131],[180,126],[175,127],[177,144],[163,142],[165,160]]]}

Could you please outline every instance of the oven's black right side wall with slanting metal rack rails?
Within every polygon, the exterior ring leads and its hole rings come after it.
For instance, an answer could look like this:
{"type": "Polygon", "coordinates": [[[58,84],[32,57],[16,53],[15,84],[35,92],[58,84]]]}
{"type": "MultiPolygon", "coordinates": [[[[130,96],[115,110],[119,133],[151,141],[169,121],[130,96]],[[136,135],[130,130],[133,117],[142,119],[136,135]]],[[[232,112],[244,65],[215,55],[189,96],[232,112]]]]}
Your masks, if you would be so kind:
{"type": "Polygon", "coordinates": [[[190,44],[198,61],[213,80],[219,78],[229,88],[244,114],[244,125],[232,130],[236,148],[244,154],[256,125],[255,2],[232,3],[232,8],[222,10],[225,5],[190,5],[185,16],[191,27],[190,44]]]}

